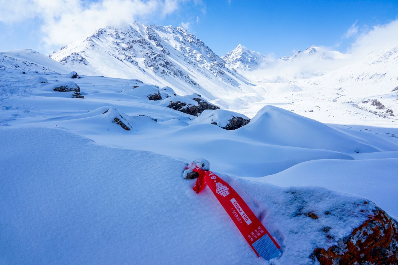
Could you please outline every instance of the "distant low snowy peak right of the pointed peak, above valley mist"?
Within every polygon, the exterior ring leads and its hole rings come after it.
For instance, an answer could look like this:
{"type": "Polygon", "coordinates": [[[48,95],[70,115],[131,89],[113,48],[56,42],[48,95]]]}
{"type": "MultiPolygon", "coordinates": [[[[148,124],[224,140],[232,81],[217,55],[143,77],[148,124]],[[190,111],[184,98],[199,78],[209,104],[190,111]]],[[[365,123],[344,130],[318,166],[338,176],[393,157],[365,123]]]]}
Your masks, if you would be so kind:
{"type": "Polygon", "coordinates": [[[283,56],[279,58],[282,61],[291,61],[299,58],[317,58],[321,60],[334,60],[334,59],[343,59],[346,58],[346,54],[343,54],[339,51],[331,51],[326,48],[310,46],[306,48],[304,51],[298,50],[292,56],[283,56]]]}

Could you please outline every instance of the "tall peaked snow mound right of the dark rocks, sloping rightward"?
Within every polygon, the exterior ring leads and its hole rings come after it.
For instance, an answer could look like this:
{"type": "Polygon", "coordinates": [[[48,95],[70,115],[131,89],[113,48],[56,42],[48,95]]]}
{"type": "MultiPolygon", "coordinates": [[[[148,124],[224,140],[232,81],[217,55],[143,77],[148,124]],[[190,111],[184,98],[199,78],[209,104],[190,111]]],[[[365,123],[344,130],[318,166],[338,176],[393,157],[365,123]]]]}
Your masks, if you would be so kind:
{"type": "Polygon", "coordinates": [[[239,133],[275,145],[326,149],[347,154],[398,149],[398,146],[387,142],[369,143],[365,139],[275,106],[263,107],[239,133]]]}

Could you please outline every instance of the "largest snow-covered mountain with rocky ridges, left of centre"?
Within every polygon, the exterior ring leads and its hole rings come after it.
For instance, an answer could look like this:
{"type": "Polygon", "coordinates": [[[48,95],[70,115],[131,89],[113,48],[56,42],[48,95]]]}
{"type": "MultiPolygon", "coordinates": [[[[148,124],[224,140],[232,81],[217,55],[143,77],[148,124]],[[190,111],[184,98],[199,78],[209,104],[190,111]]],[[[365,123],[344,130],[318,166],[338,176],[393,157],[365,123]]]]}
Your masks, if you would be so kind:
{"type": "Polygon", "coordinates": [[[107,26],[62,47],[51,58],[81,74],[138,78],[211,100],[244,93],[242,87],[253,92],[246,78],[226,68],[224,60],[183,27],[139,22],[107,26]]]}

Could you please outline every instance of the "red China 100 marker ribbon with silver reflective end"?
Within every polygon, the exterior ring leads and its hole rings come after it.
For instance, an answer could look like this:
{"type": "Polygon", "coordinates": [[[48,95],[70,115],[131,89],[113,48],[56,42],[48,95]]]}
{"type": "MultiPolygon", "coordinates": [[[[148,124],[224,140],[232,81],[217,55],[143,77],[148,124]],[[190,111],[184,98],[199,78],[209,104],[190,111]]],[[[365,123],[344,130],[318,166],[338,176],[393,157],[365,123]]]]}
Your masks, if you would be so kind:
{"type": "Polygon", "coordinates": [[[213,172],[203,170],[198,166],[192,170],[199,173],[193,190],[199,193],[203,190],[205,184],[209,186],[243,237],[259,257],[269,260],[281,255],[281,251],[279,251],[281,247],[250,210],[245,201],[228,183],[213,172]]]}

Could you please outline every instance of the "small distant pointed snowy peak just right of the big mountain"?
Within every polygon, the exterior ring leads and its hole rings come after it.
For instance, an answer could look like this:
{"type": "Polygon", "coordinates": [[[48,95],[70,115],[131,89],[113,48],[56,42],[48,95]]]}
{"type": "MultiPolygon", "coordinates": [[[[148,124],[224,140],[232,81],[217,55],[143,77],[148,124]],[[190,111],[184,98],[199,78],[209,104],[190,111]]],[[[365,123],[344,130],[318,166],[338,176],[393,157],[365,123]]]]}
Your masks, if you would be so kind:
{"type": "Polygon", "coordinates": [[[222,59],[228,64],[228,67],[235,70],[254,70],[261,65],[272,63],[272,60],[269,60],[265,55],[249,50],[241,44],[222,56],[222,59]]]}

